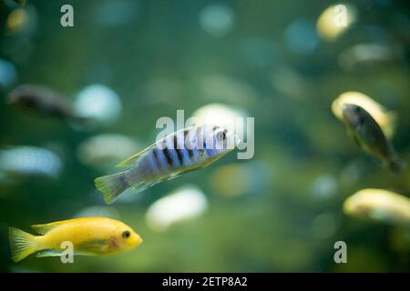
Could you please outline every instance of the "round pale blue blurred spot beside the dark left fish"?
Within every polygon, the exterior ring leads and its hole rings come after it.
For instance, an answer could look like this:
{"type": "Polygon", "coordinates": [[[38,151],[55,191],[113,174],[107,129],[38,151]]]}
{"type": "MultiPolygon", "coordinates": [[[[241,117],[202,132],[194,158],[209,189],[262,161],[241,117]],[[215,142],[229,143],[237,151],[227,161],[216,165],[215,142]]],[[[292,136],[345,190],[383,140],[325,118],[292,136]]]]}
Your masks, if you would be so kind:
{"type": "Polygon", "coordinates": [[[122,105],[117,93],[107,86],[88,85],[78,93],[75,109],[78,115],[110,124],[121,114],[122,105]]]}

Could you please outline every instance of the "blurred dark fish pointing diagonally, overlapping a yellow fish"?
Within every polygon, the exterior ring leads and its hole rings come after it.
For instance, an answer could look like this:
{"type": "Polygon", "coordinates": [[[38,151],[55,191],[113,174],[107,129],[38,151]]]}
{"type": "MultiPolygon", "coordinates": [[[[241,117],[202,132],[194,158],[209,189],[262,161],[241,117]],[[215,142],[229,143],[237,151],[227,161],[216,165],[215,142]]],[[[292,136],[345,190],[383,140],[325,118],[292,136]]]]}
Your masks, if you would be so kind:
{"type": "Polygon", "coordinates": [[[387,141],[372,115],[361,106],[345,104],[343,105],[343,120],[357,146],[374,156],[383,167],[388,166],[393,173],[401,172],[405,163],[398,158],[394,147],[387,141]]]}

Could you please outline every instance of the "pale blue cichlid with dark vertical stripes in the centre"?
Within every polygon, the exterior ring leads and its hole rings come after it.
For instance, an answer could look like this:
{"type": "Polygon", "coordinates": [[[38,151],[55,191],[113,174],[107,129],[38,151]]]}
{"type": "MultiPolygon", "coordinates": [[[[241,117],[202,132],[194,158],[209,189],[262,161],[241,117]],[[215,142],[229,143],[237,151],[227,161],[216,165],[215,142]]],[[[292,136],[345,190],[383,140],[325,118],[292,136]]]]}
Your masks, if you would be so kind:
{"type": "Polygon", "coordinates": [[[210,165],[238,144],[233,132],[218,125],[197,125],[160,139],[118,164],[127,171],[95,180],[107,204],[128,188],[143,191],[159,182],[210,165]]]}

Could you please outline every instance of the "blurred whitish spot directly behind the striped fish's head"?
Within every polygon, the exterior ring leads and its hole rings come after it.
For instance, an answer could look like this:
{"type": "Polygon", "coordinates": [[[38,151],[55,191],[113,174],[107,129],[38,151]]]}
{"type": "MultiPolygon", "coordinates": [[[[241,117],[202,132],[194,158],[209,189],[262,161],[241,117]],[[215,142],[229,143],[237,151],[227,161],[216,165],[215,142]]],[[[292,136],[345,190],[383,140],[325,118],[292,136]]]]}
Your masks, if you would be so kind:
{"type": "Polygon", "coordinates": [[[232,132],[243,133],[247,115],[246,111],[239,106],[211,103],[195,110],[192,117],[200,119],[196,125],[220,125],[232,132]],[[236,118],[242,118],[241,122],[236,123],[236,118]]]}

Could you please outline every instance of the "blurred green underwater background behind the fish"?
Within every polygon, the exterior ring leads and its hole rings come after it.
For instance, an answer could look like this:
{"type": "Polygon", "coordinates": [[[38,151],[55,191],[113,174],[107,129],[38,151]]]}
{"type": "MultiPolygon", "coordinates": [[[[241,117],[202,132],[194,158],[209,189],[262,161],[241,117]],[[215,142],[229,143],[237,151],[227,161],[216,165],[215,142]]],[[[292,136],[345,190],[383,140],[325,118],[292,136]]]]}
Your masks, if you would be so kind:
{"type": "MultiPolygon", "coordinates": [[[[378,166],[331,110],[338,95],[359,91],[395,111],[392,143],[410,165],[410,9],[395,0],[343,3],[354,6],[354,24],[329,41],[316,22],[337,4],[331,1],[0,1],[0,151],[34,146],[54,155],[20,152],[23,160],[12,159],[20,167],[2,166],[0,155],[0,270],[410,271],[408,229],[342,210],[364,188],[410,196],[409,167],[395,176],[378,166]],[[66,4],[73,27],[60,25],[66,4]],[[9,18],[15,9],[25,10],[16,24],[9,18]],[[349,51],[360,44],[380,45],[384,54],[349,51]],[[8,92],[21,84],[45,85],[73,104],[91,88],[107,104],[77,102],[97,112],[96,125],[82,129],[8,105],[8,92]],[[93,181],[116,173],[123,158],[98,160],[92,154],[108,142],[85,142],[120,135],[137,153],[155,141],[159,117],[176,118],[177,110],[188,117],[211,104],[254,117],[251,159],[233,151],[104,203],[93,181]],[[152,227],[150,206],[184,188],[204,197],[199,213],[152,227]],[[74,264],[35,255],[11,260],[9,226],[34,234],[31,225],[85,213],[115,217],[144,242],[124,254],[75,256],[74,264]],[[346,264],[333,260],[337,241],[347,245],[346,264]]],[[[129,147],[113,151],[125,158],[129,147]]]]}

